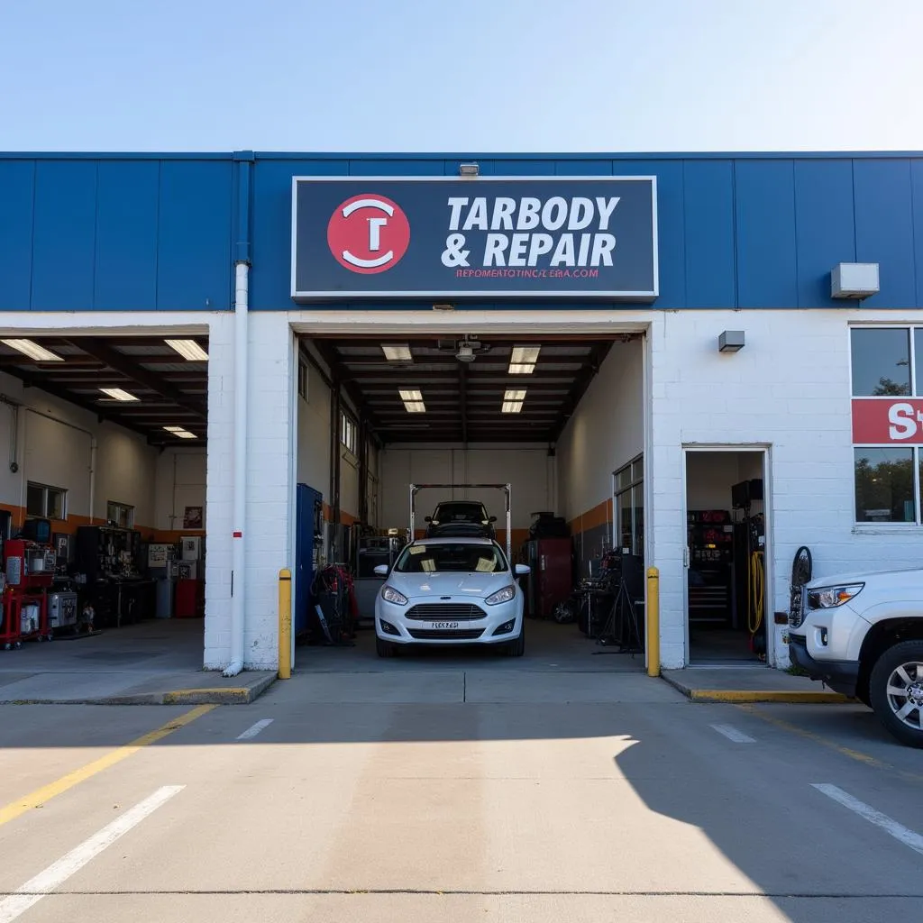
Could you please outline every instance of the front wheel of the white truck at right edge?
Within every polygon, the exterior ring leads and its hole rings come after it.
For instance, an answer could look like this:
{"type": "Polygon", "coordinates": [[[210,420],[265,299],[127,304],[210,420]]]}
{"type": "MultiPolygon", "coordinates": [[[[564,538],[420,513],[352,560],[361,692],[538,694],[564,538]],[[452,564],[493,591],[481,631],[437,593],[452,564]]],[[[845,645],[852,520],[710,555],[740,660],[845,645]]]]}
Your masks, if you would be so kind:
{"type": "Polygon", "coordinates": [[[869,699],[894,737],[923,748],[923,641],[903,641],[881,654],[871,671],[869,699]]]}

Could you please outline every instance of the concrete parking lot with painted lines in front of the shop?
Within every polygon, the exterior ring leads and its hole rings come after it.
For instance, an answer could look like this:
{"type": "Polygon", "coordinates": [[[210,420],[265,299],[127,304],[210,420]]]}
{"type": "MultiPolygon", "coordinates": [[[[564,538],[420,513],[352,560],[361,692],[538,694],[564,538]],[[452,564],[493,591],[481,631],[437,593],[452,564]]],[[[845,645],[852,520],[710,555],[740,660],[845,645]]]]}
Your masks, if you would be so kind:
{"type": "Polygon", "coordinates": [[[853,705],[424,661],[246,706],[3,706],[0,748],[0,921],[840,921],[923,897],[919,754],[853,705]]]}

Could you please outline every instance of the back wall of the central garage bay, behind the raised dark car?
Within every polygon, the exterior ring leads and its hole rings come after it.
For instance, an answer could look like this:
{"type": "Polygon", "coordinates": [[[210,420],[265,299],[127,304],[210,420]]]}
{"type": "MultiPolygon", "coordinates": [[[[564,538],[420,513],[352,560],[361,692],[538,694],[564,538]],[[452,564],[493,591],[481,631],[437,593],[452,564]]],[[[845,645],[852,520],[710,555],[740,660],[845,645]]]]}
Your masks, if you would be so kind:
{"type": "MultiPolygon", "coordinates": [[[[410,521],[411,484],[509,484],[513,547],[525,538],[532,513],[556,506],[554,459],[547,446],[530,445],[393,445],[380,453],[381,526],[406,529],[410,521]]],[[[506,497],[502,490],[426,489],[416,495],[418,532],[440,500],[471,499],[497,517],[497,536],[506,533],[506,497]]]]}

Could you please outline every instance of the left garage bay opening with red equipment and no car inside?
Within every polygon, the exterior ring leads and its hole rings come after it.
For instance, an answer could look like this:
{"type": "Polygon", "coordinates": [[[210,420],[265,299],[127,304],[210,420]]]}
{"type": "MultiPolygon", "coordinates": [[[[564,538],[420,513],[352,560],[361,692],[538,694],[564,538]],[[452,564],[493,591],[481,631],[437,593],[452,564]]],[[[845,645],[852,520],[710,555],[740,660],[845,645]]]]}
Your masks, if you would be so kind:
{"type": "Polygon", "coordinates": [[[201,667],[208,350],[166,328],[0,340],[0,646],[17,665],[201,667]],[[48,640],[75,643],[30,643],[48,640]]]}

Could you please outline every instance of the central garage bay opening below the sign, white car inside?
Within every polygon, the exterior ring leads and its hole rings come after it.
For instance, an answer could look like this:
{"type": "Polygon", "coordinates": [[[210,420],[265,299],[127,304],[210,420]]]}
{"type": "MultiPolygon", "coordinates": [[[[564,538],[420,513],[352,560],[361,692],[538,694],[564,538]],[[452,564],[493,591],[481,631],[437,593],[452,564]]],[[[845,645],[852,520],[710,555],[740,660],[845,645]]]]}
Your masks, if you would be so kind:
{"type": "MultiPolygon", "coordinates": [[[[296,665],[367,666],[382,648],[393,653],[392,643],[404,658],[428,665],[481,660],[489,656],[488,644],[496,653],[507,647],[515,654],[518,634],[509,642],[505,631],[495,635],[509,619],[495,626],[495,604],[485,602],[485,573],[500,565],[488,561],[489,554],[465,564],[461,546],[410,557],[408,543],[427,533],[446,543],[461,533],[485,536],[496,540],[504,560],[509,541],[511,560],[503,567],[519,586],[526,661],[598,669],[594,653],[628,652],[625,638],[616,637],[626,618],[621,604],[612,617],[620,573],[615,557],[622,550],[612,472],[632,461],[641,469],[643,350],[639,330],[605,336],[492,336],[476,330],[303,336],[296,665]],[[413,533],[411,485],[420,488],[413,533]],[[506,497],[497,485],[509,485],[509,533],[506,497]],[[517,565],[531,572],[517,575],[517,565]],[[440,592],[432,590],[437,598],[426,601],[445,605],[445,611],[420,609],[412,617],[423,613],[421,627],[402,620],[388,629],[379,625],[377,632],[376,603],[390,585],[382,574],[394,575],[393,589],[400,593],[397,584],[408,583],[405,570],[453,574],[449,581],[440,577],[440,592]],[[472,571],[478,579],[463,576],[472,571]],[[460,593],[470,593],[473,605],[464,618],[460,593]],[[444,632],[436,640],[470,636],[479,643],[438,649],[403,643],[419,640],[422,631],[435,633],[425,640],[444,632]]],[[[639,525],[640,545],[641,535],[639,525]]],[[[432,589],[437,581],[422,583],[432,589]]],[[[634,597],[639,624],[632,634],[642,638],[643,601],[634,597]]],[[[633,658],[605,658],[605,668],[623,662],[641,668],[640,638],[631,648],[633,658]]]]}

